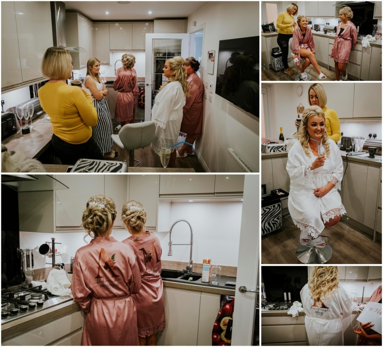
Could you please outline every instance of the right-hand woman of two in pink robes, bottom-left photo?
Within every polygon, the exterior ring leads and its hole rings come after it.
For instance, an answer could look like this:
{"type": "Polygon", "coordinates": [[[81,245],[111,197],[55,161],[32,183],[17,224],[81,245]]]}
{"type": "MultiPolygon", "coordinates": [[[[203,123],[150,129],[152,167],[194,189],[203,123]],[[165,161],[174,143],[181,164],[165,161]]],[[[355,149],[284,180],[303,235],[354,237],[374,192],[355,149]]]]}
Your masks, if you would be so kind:
{"type": "Polygon", "coordinates": [[[134,249],[142,280],[140,292],[133,296],[137,307],[139,344],[155,346],[156,334],[165,327],[161,244],[151,231],[145,230],[146,212],[140,202],[130,200],[125,203],[121,217],[132,234],[122,242],[134,249]]]}

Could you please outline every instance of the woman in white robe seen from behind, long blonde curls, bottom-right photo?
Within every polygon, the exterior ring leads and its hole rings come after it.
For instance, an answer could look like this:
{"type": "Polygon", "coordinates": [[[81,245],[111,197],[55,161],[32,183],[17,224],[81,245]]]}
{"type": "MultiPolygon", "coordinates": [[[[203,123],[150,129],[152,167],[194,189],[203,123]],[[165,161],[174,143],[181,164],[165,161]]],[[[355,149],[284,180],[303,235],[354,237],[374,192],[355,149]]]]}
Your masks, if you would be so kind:
{"type": "Polygon", "coordinates": [[[336,266],[316,266],[301,290],[310,346],[344,345],[342,319],[352,314],[352,300],[338,277],[336,266]]]}

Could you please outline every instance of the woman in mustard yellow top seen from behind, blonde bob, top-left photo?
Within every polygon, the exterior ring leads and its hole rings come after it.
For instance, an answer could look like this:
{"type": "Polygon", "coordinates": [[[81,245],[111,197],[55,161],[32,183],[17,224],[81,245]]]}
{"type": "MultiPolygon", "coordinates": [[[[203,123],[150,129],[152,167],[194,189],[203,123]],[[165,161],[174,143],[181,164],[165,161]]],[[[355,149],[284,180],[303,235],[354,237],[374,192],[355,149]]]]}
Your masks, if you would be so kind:
{"type": "Polygon", "coordinates": [[[65,83],[72,74],[72,57],[67,50],[51,47],[45,51],[41,71],[49,81],[39,89],[41,107],[52,123],[52,147],[62,164],[80,158],[103,159],[92,138],[97,111],[91,96],[82,88],[65,83]]]}

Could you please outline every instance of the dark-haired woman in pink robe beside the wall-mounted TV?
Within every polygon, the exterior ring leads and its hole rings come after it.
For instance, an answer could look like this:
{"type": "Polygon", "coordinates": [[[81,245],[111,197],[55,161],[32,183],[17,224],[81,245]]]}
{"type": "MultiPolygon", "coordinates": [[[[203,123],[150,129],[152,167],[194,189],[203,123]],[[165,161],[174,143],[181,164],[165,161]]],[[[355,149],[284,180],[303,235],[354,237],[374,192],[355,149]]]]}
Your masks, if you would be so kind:
{"type": "MultiPolygon", "coordinates": [[[[180,132],[186,134],[185,142],[193,144],[202,133],[203,121],[203,83],[196,72],[199,62],[194,57],[185,59],[184,67],[188,75],[190,97],[186,98],[180,132]]],[[[183,144],[177,152],[177,158],[194,155],[191,145],[183,144]]]]}

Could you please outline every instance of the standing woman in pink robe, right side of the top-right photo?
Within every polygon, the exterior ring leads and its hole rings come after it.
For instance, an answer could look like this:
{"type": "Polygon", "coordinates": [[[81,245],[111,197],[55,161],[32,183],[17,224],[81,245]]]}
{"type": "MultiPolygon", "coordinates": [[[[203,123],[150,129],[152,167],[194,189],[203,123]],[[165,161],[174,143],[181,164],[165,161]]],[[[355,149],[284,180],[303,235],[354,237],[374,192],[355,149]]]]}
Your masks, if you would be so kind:
{"type": "Polygon", "coordinates": [[[340,72],[342,80],[347,80],[346,65],[350,59],[351,48],[356,46],[358,33],[354,23],[350,21],[354,17],[354,13],[349,6],[339,10],[339,19],[342,21],[336,29],[334,47],[332,48],[330,57],[335,63],[335,80],[339,81],[340,72]]]}

